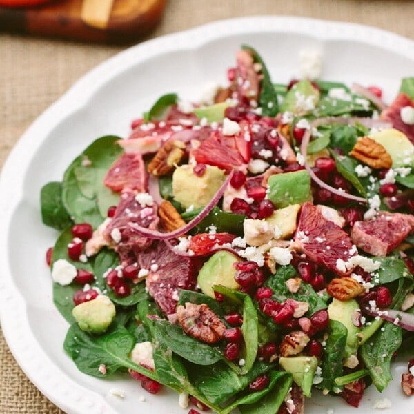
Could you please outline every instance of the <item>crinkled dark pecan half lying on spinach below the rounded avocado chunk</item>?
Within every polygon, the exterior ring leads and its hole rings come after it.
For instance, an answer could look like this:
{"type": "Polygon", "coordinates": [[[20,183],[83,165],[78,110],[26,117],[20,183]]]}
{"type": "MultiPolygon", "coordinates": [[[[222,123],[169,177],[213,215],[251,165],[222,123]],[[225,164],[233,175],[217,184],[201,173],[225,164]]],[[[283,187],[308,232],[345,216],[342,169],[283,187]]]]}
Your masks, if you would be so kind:
{"type": "Polygon", "coordinates": [[[215,344],[226,331],[226,325],[206,305],[186,302],[177,307],[178,322],[187,335],[207,344],[215,344]]]}

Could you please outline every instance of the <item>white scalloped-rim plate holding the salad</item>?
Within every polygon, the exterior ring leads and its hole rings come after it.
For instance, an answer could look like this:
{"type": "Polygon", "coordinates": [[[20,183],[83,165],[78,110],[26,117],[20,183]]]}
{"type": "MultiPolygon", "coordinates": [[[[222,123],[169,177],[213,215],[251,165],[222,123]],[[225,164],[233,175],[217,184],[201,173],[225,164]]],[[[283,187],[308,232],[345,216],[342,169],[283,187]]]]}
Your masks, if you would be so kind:
{"type": "MultiPolygon", "coordinates": [[[[391,99],[400,79],[414,75],[414,43],[395,34],[350,23],[296,17],[249,17],[210,23],[135,46],[92,70],[43,113],[14,147],[0,181],[0,311],[3,333],[30,380],[68,413],[185,413],[177,395],[152,396],[133,380],[97,380],[83,375],[63,352],[68,324],[52,303],[44,263],[57,233],[43,226],[39,191],[60,180],[66,166],[101,135],[128,133],[164,92],[197,99],[208,81],[224,82],[235,51],[248,43],[261,53],[274,81],[297,75],[299,50],[324,55],[323,78],[376,84],[391,99]],[[110,395],[125,391],[124,400],[110,395]],[[139,402],[145,395],[146,402],[139,402]]],[[[388,397],[393,413],[414,413],[400,390],[406,362],[393,365],[395,380],[380,395],[370,387],[359,412],[375,413],[375,400],[388,397]]],[[[306,413],[352,410],[342,399],[317,396],[306,413]]],[[[357,411],[355,411],[357,412],[357,411]]]]}

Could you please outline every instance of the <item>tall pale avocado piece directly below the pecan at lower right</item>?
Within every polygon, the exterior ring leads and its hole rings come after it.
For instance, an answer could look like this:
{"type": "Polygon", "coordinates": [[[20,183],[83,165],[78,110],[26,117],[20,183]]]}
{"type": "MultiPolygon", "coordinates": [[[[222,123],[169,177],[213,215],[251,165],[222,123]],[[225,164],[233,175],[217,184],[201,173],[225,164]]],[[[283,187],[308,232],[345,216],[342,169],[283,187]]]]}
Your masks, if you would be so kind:
{"type": "Polygon", "coordinates": [[[346,336],[345,359],[355,355],[358,349],[357,333],[361,331],[353,324],[353,314],[359,311],[359,304],[355,299],[338,300],[333,298],[331,304],[328,306],[329,319],[341,322],[348,330],[346,336]]]}

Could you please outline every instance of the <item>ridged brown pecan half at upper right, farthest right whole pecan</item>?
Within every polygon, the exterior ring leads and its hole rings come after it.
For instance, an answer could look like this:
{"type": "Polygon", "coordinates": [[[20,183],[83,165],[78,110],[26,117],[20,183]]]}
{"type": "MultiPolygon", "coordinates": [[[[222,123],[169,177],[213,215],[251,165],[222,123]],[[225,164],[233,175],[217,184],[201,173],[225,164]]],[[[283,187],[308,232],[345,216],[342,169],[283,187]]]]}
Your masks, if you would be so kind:
{"type": "Polygon", "coordinates": [[[371,168],[391,168],[393,160],[386,149],[370,137],[359,138],[349,153],[371,168]]]}

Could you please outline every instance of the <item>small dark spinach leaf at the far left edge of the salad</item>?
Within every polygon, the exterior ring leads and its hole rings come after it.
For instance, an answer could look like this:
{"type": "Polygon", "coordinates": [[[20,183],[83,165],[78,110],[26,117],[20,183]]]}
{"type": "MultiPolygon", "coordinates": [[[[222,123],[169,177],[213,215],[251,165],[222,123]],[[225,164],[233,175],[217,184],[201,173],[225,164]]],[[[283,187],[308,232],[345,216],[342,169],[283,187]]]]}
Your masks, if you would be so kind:
{"type": "Polygon", "coordinates": [[[46,226],[63,230],[72,220],[62,202],[62,183],[52,181],[45,184],[40,192],[41,219],[46,226]]]}

